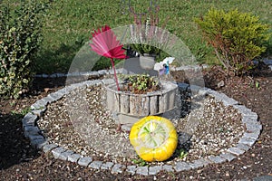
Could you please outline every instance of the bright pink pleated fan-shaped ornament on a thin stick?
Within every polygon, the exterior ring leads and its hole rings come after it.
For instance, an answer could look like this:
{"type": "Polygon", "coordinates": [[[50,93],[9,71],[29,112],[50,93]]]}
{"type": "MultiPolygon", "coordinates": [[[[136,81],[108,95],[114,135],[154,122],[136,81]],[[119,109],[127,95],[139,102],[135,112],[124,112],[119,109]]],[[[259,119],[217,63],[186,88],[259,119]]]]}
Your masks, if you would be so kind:
{"type": "Polygon", "coordinates": [[[110,26],[105,25],[102,27],[102,31],[100,28],[94,31],[94,33],[92,33],[92,43],[90,43],[90,46],[93,52],[111,58],[116,86],[117,89],[120,90],[113,59],[125,59],[126,55],[124,54],[125,50],[121,49],[122,44],[116,40],[116,36],[110,26]]]}

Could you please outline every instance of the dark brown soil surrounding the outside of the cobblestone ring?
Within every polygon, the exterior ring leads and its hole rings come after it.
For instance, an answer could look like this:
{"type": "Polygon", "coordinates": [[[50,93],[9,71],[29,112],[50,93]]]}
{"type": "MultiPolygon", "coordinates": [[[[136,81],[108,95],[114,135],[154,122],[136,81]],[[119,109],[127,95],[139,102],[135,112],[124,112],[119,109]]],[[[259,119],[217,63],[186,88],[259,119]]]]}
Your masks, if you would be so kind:
{"type": "MultiPolygon", "coordinates": [[[[180,173],[160,172],[158,180],[236,180],[272,176],[272,73],[260,67],[244,77],[231,77],[218,67],[203,71],[206,86],[226,93],[257,112],[263,130],[257,143],[235,160],[180,173]]],[[[183,77],[176,72],[176,79],[183,77]]],[[[184,81],[184,80],[183,80],[184,81]]],[[[35,100],[64,85],[63,79],[36,79],[32,93],[21,100],[0,99],[0,178],[1,180],[151,180],[154,176],[111,174],[92,170],[31,148],[24,138],[21,119],[35,100]]]]}

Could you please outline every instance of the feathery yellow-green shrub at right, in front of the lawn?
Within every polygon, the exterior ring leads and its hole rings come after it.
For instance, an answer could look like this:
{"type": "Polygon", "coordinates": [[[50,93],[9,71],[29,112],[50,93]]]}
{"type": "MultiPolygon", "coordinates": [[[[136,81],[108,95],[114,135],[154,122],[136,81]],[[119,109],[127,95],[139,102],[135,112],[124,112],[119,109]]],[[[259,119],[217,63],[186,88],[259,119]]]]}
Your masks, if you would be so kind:
{"type": "Polygon", "coordinates": [[[219,61],[237,75],[252,68],[252,60],[266,51],[268,24],[257,16],[238,10],[224,12],[210,9],[203,18],[195,19],[219,61]]]}

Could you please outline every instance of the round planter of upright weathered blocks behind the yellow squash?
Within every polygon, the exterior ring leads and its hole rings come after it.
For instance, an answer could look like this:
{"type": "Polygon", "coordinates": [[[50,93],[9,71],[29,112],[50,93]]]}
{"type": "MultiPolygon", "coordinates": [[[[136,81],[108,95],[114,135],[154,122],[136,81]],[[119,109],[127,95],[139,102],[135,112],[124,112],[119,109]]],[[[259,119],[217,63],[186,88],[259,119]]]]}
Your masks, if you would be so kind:
{"type": "Polygon", "coordinates": [[[115,84],[107,85],[106,108],[118,114],[117,123],[131,127],[143,117],[160,115],[175,109],[178,85],[170,81],[161,81],[161,87],[161,90],[146,94],[134,94],[117,90],[115,84]]]}

